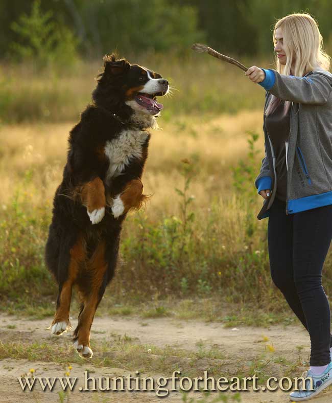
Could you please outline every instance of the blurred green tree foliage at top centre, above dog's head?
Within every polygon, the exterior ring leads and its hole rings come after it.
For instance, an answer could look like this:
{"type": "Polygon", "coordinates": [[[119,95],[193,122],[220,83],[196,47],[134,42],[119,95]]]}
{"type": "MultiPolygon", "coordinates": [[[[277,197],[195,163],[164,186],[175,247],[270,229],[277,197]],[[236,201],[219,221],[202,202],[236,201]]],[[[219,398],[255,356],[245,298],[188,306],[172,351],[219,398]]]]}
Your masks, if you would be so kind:
{"type": "Polygon", "coordinates": [[[120,53],[184,51],[205,38],[203,30],[198,29],[197,9],[191,5],[171,4],[168,0],[66,3],[73,17],[76,15],[85,47],[93,56],[115,48],[120,53]]]}

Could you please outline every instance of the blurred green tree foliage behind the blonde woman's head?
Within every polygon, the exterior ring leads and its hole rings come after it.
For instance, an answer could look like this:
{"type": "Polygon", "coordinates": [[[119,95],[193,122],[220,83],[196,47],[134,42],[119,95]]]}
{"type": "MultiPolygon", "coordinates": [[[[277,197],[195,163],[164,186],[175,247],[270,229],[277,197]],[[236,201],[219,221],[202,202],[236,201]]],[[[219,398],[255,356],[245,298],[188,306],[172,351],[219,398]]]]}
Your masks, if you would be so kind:
{"type": "MultiPolygon", "coordinates": [[[[198,26],[206,33],[209,46],[221,53],[272,56],[273,25],[278,18],[307,12],[318,20],[320,31],[332,53],[331,0],[170,0],[178,5],[195,6],[198,26]]],[[[271,59],[272,61],[273,59],[271,59]]]]}

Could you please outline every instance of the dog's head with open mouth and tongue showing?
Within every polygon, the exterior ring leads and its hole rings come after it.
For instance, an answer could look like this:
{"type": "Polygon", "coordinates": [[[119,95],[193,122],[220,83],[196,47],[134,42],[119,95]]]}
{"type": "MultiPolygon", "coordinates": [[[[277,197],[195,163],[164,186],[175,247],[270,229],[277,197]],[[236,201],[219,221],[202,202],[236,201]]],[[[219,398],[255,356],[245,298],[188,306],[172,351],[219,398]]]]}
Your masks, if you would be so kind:
{"type": "Polygon", "coordinates": [[[169,83],[160,74],[112,54],[104,56],[104,71],[92,98],[97,105],[122,116],[159,116],[163,106],[156,97],[168,91],[169,83]]]}

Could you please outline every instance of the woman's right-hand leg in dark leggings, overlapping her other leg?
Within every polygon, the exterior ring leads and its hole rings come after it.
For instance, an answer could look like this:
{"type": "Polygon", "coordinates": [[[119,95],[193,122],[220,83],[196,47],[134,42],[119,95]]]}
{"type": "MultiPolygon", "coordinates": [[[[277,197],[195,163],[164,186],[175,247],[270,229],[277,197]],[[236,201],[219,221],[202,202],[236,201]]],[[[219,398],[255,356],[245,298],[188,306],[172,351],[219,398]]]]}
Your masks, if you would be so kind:
{"type": "Polygon", "coordinates": [[[330,362],[330,309],[322,286],[332,238],[332,205],[294,214],[294,281],[311,340],[311,366],[330,362]]]}

